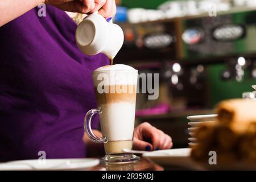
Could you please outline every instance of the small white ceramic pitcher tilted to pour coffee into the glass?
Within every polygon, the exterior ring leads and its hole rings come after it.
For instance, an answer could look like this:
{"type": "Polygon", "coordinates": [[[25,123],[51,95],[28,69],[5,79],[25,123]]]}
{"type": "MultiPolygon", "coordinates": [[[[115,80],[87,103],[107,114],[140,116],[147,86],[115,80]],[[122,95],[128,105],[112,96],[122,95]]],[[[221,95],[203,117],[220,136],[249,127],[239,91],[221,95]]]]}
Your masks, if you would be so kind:
{"type": "Polygon", "coordinates": [[[86,55],[104,53],[114,59],[123,44],[121,27],[95,12],[82,20],[76,30],[76,43],[86,55]]]}

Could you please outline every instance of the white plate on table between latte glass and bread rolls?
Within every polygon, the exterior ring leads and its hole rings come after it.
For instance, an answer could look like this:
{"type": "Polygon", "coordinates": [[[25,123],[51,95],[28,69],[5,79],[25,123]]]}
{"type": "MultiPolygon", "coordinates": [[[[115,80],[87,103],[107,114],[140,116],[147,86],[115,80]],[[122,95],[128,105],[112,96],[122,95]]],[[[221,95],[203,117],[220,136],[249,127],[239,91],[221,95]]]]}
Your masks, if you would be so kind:
{"type": "Polygon", "coordinates": [[[144,158],[163,167],[184,167],[186,169],[203,169],[191,157],[191,148],[159,150],[143,154],[144,158]]]}

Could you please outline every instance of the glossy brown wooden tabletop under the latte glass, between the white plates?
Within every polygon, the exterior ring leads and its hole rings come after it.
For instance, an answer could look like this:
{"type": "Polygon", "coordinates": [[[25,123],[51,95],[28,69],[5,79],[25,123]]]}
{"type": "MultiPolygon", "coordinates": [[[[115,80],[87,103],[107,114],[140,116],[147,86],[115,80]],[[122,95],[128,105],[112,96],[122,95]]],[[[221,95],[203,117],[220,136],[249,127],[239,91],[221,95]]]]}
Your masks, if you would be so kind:
{"type": "Polygon", "coordinates": [[[98,166],[88,169],[89,171],[163,171],[164,168],[148,161],[141,156],[141,161],[131,164],[112,164],[104,166],[99,164],[98,166]]]}

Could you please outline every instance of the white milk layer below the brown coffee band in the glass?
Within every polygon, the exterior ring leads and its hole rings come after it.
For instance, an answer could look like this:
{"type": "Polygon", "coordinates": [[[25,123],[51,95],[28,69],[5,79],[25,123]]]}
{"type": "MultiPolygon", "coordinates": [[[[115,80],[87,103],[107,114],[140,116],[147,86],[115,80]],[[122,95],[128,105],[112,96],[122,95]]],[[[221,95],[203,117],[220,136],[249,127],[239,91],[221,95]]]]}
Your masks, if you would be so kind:
{"type": "Polygon", "coordinates": [[[108,141],[132,140],[134,131],[135,103],[114,102],[100,105],[101,131],[108,141]]]}

